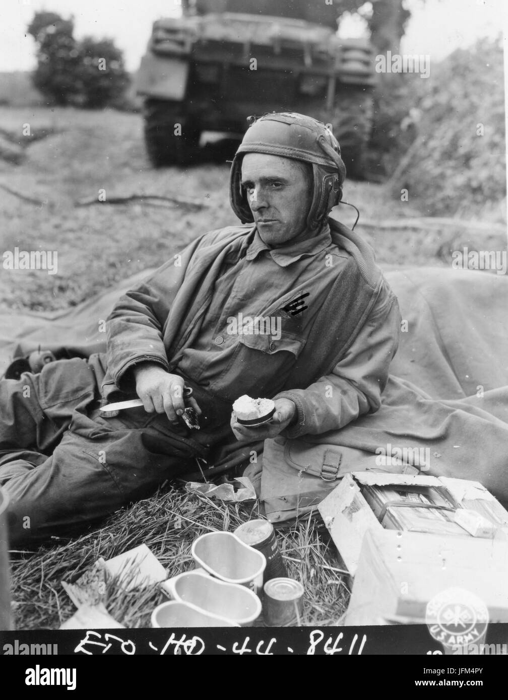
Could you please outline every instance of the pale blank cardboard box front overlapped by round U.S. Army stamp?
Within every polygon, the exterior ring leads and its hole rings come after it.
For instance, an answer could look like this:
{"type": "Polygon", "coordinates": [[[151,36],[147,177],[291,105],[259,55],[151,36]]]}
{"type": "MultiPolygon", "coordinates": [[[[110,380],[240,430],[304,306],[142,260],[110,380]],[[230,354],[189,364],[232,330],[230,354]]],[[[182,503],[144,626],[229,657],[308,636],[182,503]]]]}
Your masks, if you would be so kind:
{"type": "Polygon", "coordinates": [[[507,580],[507,541],[375,528],[365,535],[342,624],[437,621],[443,629],[434,638],[474,643],[482,625],[508,622],[507,580]]]}

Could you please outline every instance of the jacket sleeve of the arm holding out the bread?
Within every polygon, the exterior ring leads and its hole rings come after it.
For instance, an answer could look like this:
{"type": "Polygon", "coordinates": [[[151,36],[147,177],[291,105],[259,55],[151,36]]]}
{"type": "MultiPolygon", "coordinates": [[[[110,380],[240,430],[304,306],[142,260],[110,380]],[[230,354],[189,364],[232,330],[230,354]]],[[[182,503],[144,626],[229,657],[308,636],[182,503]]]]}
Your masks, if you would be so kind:
{"type": "Polygon", "coordinates": [[[332,372],[306,389],[282,391],[274,397],[291,399],[298,412],[298,421],[281,434],[318,435],[376,412],[399,346],[400,323],[397,297],[385,286],[362,330],[332,372]]]}

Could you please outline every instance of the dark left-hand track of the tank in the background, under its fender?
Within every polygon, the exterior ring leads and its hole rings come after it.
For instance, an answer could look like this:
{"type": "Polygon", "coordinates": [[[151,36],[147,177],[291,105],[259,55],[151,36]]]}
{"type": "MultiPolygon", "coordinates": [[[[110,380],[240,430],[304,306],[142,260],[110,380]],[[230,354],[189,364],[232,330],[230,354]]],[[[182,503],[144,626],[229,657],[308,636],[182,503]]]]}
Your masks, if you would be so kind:
{"type": "Polygon", "coordinates": [[[179,102],[149,99],[143,116],[146,151],[154,167],[188,165],[198,158],[200,131],[182,116],[179,102]]]}

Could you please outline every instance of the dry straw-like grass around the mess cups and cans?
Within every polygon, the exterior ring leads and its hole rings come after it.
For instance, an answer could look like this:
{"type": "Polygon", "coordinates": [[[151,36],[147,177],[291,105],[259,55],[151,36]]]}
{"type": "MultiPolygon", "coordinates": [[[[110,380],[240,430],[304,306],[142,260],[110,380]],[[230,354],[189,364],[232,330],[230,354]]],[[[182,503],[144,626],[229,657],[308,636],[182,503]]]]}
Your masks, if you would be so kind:
{"type": "MultiPolygon", "coordinates": [[[[13,553],[11,561],[13,614],[16,629],[56,629],[76,608],[61,581],[74,582],[99,556],[112,556],[137,547],[150,547],[168,576],[194,568],[191,545],[209,531],[233,531],[259,517],[252,501],[228,504],[170,489],[122,510],[98,530],[80,538],[53,538],[38,551],[13,553]]],[[[277,533],[291,577],[303,583],[303,625],[337,624],[345,611],[348,589],[340,573],[336,549],[326,531],[310,521],[277,533]]],[[[118,578],[107,582],[106,607],[127,627],[150,624],[156,605],[167,600],[156,586],[125,591],[118,578]]]]}

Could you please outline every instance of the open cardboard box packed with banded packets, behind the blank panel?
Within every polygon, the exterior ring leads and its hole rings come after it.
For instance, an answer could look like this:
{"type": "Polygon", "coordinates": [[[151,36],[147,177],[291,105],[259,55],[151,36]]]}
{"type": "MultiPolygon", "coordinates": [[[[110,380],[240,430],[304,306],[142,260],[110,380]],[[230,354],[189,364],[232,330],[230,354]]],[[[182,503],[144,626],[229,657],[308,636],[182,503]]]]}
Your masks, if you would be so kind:
{"type": "Polygon", "coordinates": [[[318,509],[352,576],[368,530],[508,540],[508,512],[467,479],[351,472],[318,509]]]}

